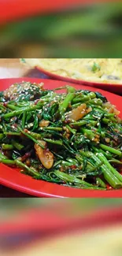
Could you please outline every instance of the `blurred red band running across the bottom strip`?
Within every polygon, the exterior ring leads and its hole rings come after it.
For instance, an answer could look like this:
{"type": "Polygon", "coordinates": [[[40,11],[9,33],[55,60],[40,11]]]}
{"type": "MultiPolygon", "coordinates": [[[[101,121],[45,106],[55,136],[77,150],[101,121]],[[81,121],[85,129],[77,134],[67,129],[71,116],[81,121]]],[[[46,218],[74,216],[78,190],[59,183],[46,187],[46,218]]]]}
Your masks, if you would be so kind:
{"type": "MultiPolygon", "coordinates": [[[[86,202],[87,203],[87,202],[86,202]]],[[[74,204],[75,206],[75,204],[74,204]]],[[[72,210],[70,204],[69,209],[72,210]],[[71,209],[70,209],[71,207],[71,209]]],[[[105,206],[104,206],[105,207],[105,206]]],[[[115,222],[122,222],[122,206],[113,205],[101,208],[99,210],[91,210],[91,213],[86,212],[86,216],[80,215],[77,217],[65,217],[54,211],[48,209],[35,209],[20,210],[13,220],[1,221],[0,223],[0,236],[14,236],[16,233],[24,232],[54,232],[54,230],[77,229],[77,228],[94,228],[95,225],[114,224],[115,222]],[[21,216],[22,215],[22,216],[21,216]],[[31,221],[33,220],[33,221],[31,221]],[[38,220],[38,221],[37,221],[38,220]],[[42,221],[46,220],[46,221],[42,221]]]]}

